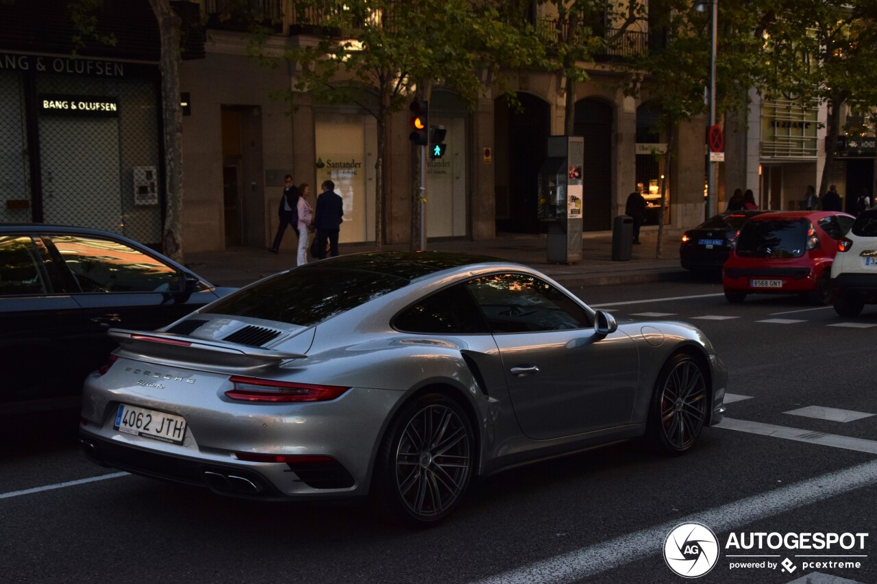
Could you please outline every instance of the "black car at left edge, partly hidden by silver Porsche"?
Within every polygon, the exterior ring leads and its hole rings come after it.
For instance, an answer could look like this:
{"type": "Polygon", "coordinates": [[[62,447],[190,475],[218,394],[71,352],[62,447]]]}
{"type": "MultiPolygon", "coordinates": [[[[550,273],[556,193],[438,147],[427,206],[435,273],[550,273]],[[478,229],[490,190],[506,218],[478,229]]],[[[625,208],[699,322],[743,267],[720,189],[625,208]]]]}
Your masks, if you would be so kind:
{"type": "Polygon", "coordinates": [[[0,224],[0,416],[75,405],[111,326],[154,330],[232,290],[114,233],[0,224]]]}

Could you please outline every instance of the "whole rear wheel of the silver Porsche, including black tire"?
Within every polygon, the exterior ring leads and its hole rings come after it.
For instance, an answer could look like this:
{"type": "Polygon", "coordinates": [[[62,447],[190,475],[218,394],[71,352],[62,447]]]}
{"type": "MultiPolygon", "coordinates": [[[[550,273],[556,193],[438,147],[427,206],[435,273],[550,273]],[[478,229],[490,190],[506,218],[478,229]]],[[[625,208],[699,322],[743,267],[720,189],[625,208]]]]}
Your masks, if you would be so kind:
{"type": "Polygon", "coordinates": [[[417,397],[393,419],[374,467],[372,502],[383,519],[431,527],[465,495],[475,461],[472,424],[444,394],[417,397]]]}

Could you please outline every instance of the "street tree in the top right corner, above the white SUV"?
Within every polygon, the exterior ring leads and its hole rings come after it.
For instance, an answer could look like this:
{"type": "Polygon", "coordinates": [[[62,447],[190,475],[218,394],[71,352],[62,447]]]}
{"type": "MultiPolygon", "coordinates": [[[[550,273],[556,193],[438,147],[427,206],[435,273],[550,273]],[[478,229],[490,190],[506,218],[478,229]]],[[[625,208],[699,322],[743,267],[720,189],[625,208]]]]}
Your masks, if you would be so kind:
{"type": "Polygon", "coordinates": [[[775,0],[763,12],[766,98],[827,103],[825,163],[819,194],[831,182],[845,106],[877,107],[877,3],[873,0],[775,0]]]}

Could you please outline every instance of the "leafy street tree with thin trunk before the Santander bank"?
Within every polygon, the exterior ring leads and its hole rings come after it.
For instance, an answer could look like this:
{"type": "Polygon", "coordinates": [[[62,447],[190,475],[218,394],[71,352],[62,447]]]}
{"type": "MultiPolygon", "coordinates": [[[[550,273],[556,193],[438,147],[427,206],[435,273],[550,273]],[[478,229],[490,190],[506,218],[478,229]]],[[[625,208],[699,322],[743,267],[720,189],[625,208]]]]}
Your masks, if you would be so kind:
{"type": "MultiPolygon", "coordinates": [[[[266,37],[257,35],[251,52],[260,61],[293,64],[297,92],[321,103],[355,103],[374,117],[374,233],[380,250],[389,117],[413,98],[429,99],[436,83],[474,101],[484,80],[499,72],[498,55],[521,64],[538,52],[538,44],[504,22],[492,4],[471,0],[348,0],[332,7],[302,0],[295,11],[296,23],[310,26],[307,39],[273,53],[262,42],[266,37]]],[[[295,96],[289,92],[293,107],[295,96]]]]}

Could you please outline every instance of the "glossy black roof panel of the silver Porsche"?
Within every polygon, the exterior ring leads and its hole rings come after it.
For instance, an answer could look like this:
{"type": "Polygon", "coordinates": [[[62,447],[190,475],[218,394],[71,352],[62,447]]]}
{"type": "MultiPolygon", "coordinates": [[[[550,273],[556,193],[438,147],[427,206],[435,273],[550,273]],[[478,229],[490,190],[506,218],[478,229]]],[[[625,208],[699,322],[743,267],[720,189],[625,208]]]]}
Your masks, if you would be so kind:
{"type": "Polygon", "coordinates": [[[298,269],[358,270],[386,274],[406,280],[435,274],[456,267],[489,263],[509,265],[506,260],[487,255],[449,252],[368,252],[340,255],[305,264],[298,269]]]}

